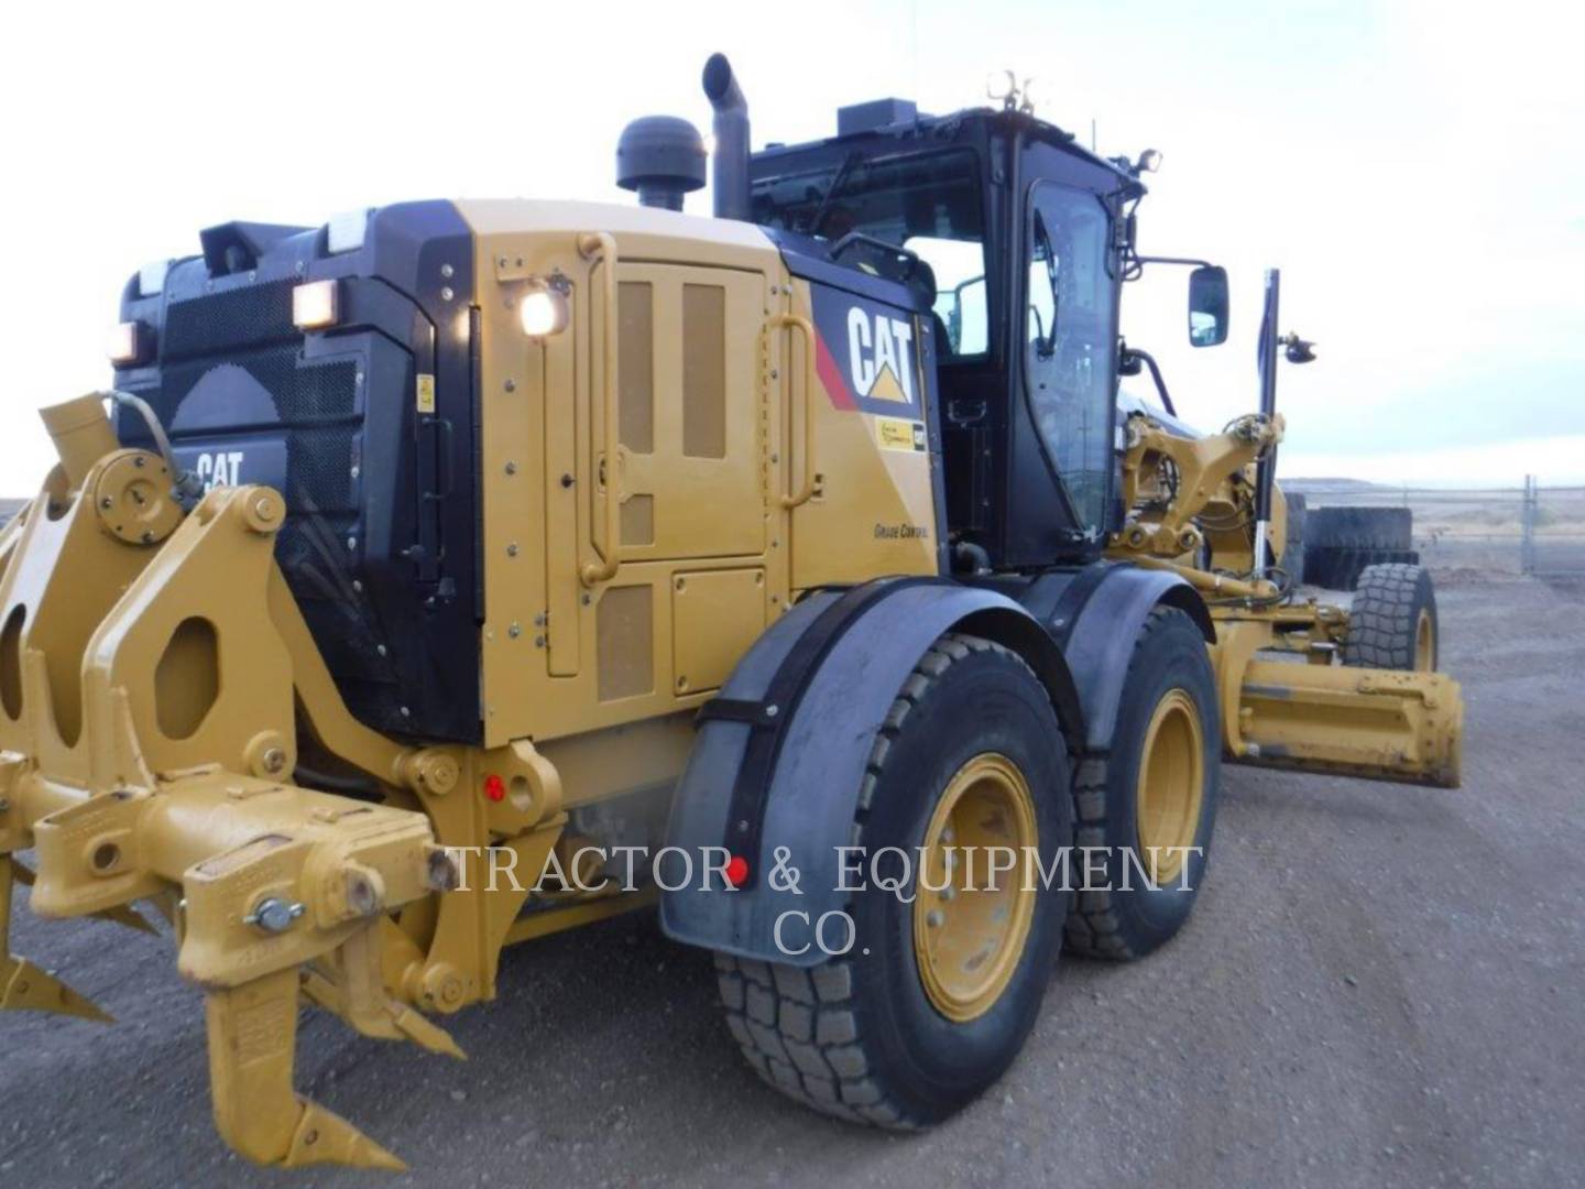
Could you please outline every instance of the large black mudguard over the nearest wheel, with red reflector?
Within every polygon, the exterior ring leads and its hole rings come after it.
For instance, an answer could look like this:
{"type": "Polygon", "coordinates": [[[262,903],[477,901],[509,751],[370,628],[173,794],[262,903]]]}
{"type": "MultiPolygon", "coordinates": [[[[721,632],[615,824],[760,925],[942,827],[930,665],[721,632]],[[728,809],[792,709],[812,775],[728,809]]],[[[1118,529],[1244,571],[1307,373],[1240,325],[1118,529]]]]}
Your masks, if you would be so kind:
{"type": "MultiPolygon", "coordinates": [[[[1005,594],[946,579],[881,579],[819,591],[788,612],[739,663],[699,732],[672,799],[667,843],[689,856],[742,856],[726,889],[694,878],[661,896],[678,942],[794,965],[823,961],[813,923],[842,908],[840,847],[851,843],[875,734],[930,644],[965,631],[1018,652],[1051,694],[1070,748],[1081,710],[1062,652],[1005,594]],[[778,870],[780,867],[780,870],[778,870]],[[796,886],[786,878],[796,872],[796,886]],[[783,923],[778,946],[778,921],[783,923]]],[[[724,859],[723,859],[724,861],[724,859]]],[[[716,864],[718,866],[718,864],[716,864]]]]}

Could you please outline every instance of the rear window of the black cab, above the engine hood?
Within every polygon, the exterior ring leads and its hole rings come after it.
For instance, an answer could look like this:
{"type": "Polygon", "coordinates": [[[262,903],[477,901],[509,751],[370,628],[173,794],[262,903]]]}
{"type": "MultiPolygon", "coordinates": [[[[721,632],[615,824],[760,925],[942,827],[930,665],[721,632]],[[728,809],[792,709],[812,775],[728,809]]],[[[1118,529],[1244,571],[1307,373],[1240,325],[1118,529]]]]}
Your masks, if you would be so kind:
{"type": "MultiPolygon", "coordinates": [[[[980,159],[968,151],[864,160],[756,178],[756,224],[818,236],[832,246],[854,231],[911,252],[905,281],[930,304],[941,358],[983,355],[986,333],[984,219],[980,159]]],[[[843,262],[880,273],[861,243],[843,262]]]]}

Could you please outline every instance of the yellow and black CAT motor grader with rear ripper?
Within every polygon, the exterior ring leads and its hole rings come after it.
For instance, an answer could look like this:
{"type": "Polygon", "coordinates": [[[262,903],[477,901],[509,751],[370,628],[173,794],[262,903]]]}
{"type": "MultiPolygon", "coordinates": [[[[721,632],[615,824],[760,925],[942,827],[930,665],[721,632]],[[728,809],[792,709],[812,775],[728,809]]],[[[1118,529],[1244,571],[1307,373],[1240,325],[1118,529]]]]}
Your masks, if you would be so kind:
{"type": "MultiPolygon", "coordinates": [[[[1059,950],[1182,926],[1222,761],[1458,782],[1426,575],[1344,609],[1282,572],[1278,350],[1309,349],[1274,277],[1222,433],[1122,341],[1124,287],[1184,263],[1136,250],[1148,159],[1013,89],[750,152],[723,57],[704,89],[713,163],[682,120],[623,135],[636,206],[209,228],[128,282],[114,390],[43,411],[0,553],[0,1002],[103,1016],[11,954],[13,885],[157,912],[252,1160],[401,1167],[293,1092],[300,1007],[461,1056],[502,946],[656,902],[769,1083],[929,1126],[1059,950]],[[1159,401],[1119,400],[1144,366],[1159,401]],[[976,877],[997,847],[1095,861],[976,877]]],[[[1187,263],[1214,346],[1227,277],[1187,263]]]]}

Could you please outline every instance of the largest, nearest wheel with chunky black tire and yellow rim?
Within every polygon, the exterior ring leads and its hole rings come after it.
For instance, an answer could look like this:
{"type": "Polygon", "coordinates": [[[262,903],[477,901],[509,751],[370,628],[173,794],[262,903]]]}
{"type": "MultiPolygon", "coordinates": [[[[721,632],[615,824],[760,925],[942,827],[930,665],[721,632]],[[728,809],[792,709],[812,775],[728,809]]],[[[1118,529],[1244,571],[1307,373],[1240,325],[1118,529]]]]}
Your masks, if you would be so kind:
{"type": "MultiPolygon", "coordinates": [[[[1027,837],[1008,845],[1038,845],[1051,869],[1071,842],[1068,789],[1067,750],[1035,674],[997,644],[948,634],[908,677],[875,739],[854,843],[869,856],[902,847],[918,858],[932,834],[941,837],[943,821],[965,834],[986,826],[992,837],[1002,821],[1027,837]],[[973,813],[951,815],[957,804],[973,813]]],[[[954,889],[954,902],[937,902],[918,888],[918,872],[905,888],[918,894],[911,905],[873,883],[856,893],[846,905],[853,948],[813,969],[716,954],[726,1023],[748,1064],[804,1105],[854,1122],[927,1127],[972,1102],[1022,1048],[1057,958],[1062,880],[1045,888],[1037,878],[1033,891],[1021,891],[1029,888],[1021,877],[1002,877],[1019,880],[1005,913],[970,918],[970,959],[948,961],[919,939],[932,927],[946,937],[951,913],[1003,904],[973,899],[1002,893],[954,889]],[[937,910],[946,912],[926,924],[932,918],[921,915],[937,910]],[[1000,940],[984,942],[986,921],[997,931],[1003,919],[1011,924],[1000,940]]],[[[987,883],[984,872],[978,883],[987,883]]]]}

